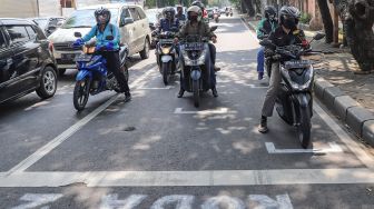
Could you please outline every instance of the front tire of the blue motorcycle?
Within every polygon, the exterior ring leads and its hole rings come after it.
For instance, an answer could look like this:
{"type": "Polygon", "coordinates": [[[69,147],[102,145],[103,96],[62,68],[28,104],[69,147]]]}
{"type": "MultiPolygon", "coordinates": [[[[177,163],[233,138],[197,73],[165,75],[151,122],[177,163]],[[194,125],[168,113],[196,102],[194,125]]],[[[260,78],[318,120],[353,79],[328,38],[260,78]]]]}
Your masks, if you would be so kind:
{"type": "Polygon", "coordinates": [[[87,78],[76,82],[72,93],[72,102],[76,110],[81,111],[85,109],[89,98],[90,80],[87,78]]]}

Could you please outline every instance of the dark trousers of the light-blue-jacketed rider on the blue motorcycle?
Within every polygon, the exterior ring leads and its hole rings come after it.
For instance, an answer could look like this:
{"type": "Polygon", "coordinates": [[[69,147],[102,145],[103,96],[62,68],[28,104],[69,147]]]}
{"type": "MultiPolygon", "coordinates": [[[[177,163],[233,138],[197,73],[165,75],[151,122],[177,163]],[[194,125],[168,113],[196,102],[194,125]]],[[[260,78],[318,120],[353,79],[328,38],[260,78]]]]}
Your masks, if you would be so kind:
{"type": "Polygon", "coordinates": [[[111,71],[120,88],[121,92],[130,92],[130,89],[128,87],[128,83],[125,79],[125,74],[120,71],[120,59],[119,59],[119,52],[118,51],[102,51],[100,54],[107,60],[107,68],[109,71],[111,71]]]}

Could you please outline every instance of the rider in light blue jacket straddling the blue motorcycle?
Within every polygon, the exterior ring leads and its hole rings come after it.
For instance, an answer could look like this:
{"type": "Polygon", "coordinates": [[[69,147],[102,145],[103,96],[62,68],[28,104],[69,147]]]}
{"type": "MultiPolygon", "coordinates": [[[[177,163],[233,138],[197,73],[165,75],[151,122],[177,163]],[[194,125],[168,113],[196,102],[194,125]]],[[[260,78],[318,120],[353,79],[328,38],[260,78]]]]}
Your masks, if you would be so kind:
{"type": "Polygon", "coordinates": [[[75,46],[81,46],[94,37],[96,37],[96,48],[100,49],[106,47],[107,49],[114,49],[110,51],[100,51],[100,53],[107,60],[107,68],[111,71],[119,86],[121,92],[125,92],[125,102],[131,100],[131,93],[125,74],[120,71],[120,59],[119,59],[119,42],[120,42],[120,33],[119,28],[112,23],[110,23],[110,11],[106,8],[99,8],[95,11],[95,18],[97,24],[91,28],[91,30],[82,38],[76,40],[75,46]],[[112,36],[114,40],[106,40],[107,36],[112,36]]]}

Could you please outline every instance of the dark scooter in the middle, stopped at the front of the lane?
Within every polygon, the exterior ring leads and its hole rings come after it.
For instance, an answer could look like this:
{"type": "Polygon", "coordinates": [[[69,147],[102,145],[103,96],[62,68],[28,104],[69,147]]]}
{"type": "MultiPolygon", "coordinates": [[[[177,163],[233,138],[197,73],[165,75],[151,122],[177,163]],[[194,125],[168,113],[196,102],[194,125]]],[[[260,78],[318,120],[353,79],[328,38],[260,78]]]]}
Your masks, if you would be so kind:
{"type": "MultiPolygon", "coordinates": [[[[210,30],[216,30],[211,27],[210,30]]],[[[194,106],[199,107],[200,93],[211,89],[209,39],[200,36],[187,36],[180,41],[180,76],[183,89],[194,93],[194,106]]]]}

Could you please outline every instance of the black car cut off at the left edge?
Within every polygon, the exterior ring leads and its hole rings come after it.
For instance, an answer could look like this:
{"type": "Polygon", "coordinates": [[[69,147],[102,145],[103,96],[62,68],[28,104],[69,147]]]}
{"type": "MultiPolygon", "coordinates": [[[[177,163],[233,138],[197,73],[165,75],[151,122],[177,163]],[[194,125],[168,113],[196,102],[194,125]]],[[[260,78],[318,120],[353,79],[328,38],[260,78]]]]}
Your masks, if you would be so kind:
{"type": "Polygon", "coordinates": [[[0,18],[0,103],[37,91],[53,97],[57,67],[45,33],[31,21],[0,18]]]}

